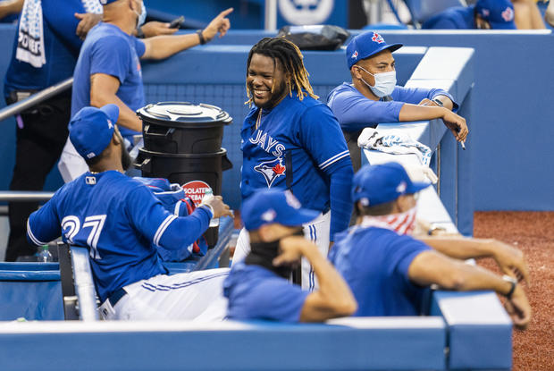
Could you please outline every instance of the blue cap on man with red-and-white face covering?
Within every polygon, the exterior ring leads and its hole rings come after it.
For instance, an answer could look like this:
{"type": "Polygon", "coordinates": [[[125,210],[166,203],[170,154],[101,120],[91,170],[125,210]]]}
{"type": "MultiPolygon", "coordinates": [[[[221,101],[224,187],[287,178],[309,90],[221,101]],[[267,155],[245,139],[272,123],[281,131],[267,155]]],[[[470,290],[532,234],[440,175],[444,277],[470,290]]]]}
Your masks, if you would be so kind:
{"type": "Polygon", "coordinates": [[[404,166],[398,163],[365,165],[352,180],[352,201],[374,207],[394,201],[402,195],[416,193],[431,183],[410,180],[404,166]]]}

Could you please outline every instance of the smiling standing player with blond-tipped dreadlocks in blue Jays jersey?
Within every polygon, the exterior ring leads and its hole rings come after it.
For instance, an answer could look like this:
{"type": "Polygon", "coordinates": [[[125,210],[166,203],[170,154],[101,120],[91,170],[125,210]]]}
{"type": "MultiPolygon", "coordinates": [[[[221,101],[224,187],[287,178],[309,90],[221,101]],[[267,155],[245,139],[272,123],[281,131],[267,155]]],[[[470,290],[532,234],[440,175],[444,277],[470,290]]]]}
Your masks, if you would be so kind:
{"type": "MultiPolygon", "coordinates": [[[[297,46],[263,38],[247,63],[247,104],[254,104],[241,131],[243,201],[256,189],[290,190],[303,207],[321,212],[304,234],[324,256],[336,232],[348,227],[353,171],[339,122],[317,101],[297,46]]],[[[271,211],[271,210],[270,210],[271,211]]],[[[262,215],[270,222],[271,212],[262,215]]],[[[274,241],[271,241],[274,242],[274,241]]],[[[239,235],[233,263],[248,254],[248,233],[239,235]]],[[[315,275],[302,264],[302,287],[313,291],[315,275]]]]}

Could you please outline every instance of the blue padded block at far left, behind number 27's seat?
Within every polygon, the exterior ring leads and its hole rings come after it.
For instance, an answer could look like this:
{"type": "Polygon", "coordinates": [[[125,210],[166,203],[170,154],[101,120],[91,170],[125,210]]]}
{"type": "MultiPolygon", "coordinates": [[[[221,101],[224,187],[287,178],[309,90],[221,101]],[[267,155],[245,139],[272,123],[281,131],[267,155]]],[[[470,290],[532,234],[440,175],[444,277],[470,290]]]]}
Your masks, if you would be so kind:
{"type": "Polygon", "coordinates": [[[57,263],[0,263],[0,320],[19,317],[63,320],[57,263]]]}

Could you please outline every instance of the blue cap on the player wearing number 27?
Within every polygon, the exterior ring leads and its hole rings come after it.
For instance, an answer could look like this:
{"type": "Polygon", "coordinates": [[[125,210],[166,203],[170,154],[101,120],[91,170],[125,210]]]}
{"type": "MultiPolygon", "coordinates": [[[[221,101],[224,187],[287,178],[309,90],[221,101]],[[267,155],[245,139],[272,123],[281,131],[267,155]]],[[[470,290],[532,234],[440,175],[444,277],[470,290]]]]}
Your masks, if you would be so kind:
{"type": "Polygon", "coordinates": [[[84,159],[94,158],[108,147],[119,117],[117,105],[84,107],[69,124],[70,140],[84,159]]]}

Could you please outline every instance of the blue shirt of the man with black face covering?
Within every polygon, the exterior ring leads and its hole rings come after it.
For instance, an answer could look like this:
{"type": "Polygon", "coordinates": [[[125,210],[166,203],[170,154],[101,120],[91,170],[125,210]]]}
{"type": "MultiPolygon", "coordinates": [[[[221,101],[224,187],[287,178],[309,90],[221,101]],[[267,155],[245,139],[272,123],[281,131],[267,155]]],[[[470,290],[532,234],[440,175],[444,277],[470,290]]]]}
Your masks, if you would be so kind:
{"type": "Polygon", "coordinates": [[[296,323],[308,294],[263,266],[242,262],[231,268],[223,282],[223,295],[229,299],[229,319],[296,323]]]}

